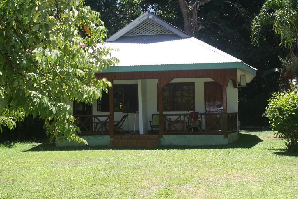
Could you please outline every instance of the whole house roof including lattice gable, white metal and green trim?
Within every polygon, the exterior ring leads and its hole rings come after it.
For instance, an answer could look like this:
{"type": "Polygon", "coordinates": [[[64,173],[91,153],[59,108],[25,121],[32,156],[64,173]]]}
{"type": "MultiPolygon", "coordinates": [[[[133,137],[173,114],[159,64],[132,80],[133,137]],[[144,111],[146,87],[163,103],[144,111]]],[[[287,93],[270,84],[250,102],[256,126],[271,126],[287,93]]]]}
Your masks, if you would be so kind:
{"type": "Polygon", "coordinates": [[[120,63],[102,72],[237,68],[238,75],[248,75],[248,82],[256,75],[256,69],[240,59],[148,12],[109,37],[105,46],[119,50],[112,51],[112,56],[120,63]]]}

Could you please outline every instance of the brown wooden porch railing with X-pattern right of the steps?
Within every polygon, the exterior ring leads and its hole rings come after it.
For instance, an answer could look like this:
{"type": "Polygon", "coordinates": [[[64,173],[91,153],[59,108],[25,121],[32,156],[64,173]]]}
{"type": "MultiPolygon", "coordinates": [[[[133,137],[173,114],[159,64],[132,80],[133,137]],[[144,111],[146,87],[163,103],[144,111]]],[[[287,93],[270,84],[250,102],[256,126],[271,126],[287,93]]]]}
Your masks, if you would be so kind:
{"type": "Polygon", "coordinates": [[[227,134],[238,130],[238,113],[162,114],[164,134],[227,134]],[[226,124],[224,121],[227,121],[226,124]]]}

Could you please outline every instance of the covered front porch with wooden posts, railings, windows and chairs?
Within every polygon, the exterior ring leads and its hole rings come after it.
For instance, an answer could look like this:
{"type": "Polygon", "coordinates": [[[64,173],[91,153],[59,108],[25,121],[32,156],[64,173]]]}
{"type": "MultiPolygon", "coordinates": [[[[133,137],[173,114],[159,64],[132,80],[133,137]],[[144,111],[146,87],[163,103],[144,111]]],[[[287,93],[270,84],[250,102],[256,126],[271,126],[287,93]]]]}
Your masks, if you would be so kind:
{"type": "Polygon", "coordinates": [[[93,104],[89,115],[74,114],[82,135],[227,138],[238,131],[237,69],[105,72],[96,76],[106,77],[113,86],[107,98],[93,104]]]}

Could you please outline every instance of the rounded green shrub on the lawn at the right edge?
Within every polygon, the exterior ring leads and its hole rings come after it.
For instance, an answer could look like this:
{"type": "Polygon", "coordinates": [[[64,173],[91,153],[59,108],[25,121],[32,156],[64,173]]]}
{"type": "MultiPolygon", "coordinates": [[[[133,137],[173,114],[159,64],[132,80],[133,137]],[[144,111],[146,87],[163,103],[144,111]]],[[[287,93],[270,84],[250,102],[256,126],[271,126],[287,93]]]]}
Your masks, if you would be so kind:
{"type": "Polygon", "coordinates": [[[264,116],[276,135],[286,139],[289,151],[298,151],[298,95],[295,92],[272,93],[264,116]]]}

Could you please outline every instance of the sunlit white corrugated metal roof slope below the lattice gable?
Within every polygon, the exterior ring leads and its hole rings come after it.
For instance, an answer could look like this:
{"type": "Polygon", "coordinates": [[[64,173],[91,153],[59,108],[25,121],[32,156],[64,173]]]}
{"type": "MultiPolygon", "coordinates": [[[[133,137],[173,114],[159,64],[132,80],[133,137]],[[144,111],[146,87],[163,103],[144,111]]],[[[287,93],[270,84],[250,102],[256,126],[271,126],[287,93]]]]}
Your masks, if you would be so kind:
{"type": "Polygon", "coordinates": [[[242,62],[194,37],[176,34],[122,36],[105,46],[119,49],[112,52],[119,66],[242,62]]]}

